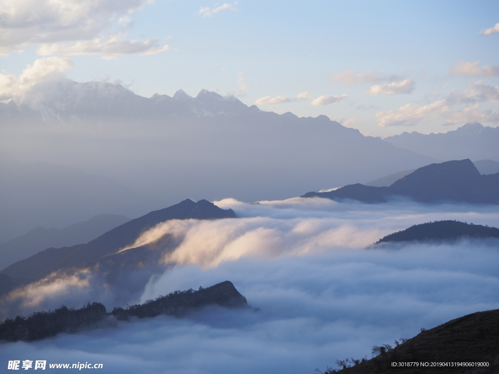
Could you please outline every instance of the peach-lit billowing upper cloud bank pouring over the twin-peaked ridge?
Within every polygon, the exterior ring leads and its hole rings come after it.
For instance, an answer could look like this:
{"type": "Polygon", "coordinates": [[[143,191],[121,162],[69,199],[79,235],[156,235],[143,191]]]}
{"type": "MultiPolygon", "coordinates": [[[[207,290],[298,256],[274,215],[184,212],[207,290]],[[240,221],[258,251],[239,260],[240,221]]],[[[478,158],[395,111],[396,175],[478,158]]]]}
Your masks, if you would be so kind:
{"type": "MultiPolygon", "coordinates": [[[[404,203],[408,202],[400,202],[404,203]]],[[[453,208],[450,212],[413,211],[421,207],[410,203],[411,207],[393,203],[369,207],[368,211],[362,203],[345,204],[322,198],[297,197],[258,204],[225,199],[216,204],[232,208],[239,218],[169,220],[143,232],[127,248],[170,235],[180,245],[166,253],[163,262],[216,268],[223,262],[243,257],[277,258],[323,253],[335,248],[365,248],[389,233],[423,221],[468,219],[466,213],[458,213],[453,208]],[[379,219],[382,221],[378,222],[379,219]]]]}

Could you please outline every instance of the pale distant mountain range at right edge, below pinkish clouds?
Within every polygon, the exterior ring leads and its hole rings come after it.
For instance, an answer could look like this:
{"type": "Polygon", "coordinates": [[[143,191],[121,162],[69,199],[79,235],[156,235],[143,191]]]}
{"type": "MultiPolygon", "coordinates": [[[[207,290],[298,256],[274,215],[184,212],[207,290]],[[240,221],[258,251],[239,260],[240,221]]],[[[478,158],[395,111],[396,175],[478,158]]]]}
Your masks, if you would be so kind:
{"type": "Polygon", "coordinates": [[[495,160],[499,161],[499,127],[484,127],[478,122],[467,123],[457,130],[439,134],[404,132],[384,139],[396,147],[405,148],[436,160],[495,160]]]}

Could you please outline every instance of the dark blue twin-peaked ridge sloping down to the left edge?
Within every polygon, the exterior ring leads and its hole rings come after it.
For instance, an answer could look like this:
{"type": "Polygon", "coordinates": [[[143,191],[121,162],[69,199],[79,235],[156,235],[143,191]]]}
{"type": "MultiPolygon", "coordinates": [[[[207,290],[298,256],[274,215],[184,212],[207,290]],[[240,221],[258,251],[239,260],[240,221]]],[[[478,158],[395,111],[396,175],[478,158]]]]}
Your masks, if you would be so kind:
{"type": "MultiPolygon", "coordinates": [[[[169,219],[217,219],[232,218],[236,214],[232,209],[221,209],[210,201],[200,200],[194,202],[186,199],[176,205],[165,209],[155,210],[142,217],[132,219],[87,244],[79,244],[71,247],[48,248],[25,260],[18,261],[0,273],[7,275],[13,281],[27,284],[39,280],[57,270],[70,270],[72,268],[91,267],[99,260],[104,263],[106,256],[121,260],[130,254],[140,252],[140,256],[159,256],[160,251],[149,250],[148,247],[140,247],[136,251],[124,251],[116,254],[120,249],[133,244],[139,235],[160,222],[169,219]],[[127,253],[128,252],[128,253],[127,253]]],[[[160,239],[161,240],[161,239],[160,239]]],[[[107,259],[109,260],[109,259],[107,259]]],[[[109,263],[109,261],[107,261],[109,263]]],[[[113,267],[121,268],[121,263],[111,261],[113,267]]],[[[137,258],[133,260],[135,268],[141,266],[137,258]]]]}

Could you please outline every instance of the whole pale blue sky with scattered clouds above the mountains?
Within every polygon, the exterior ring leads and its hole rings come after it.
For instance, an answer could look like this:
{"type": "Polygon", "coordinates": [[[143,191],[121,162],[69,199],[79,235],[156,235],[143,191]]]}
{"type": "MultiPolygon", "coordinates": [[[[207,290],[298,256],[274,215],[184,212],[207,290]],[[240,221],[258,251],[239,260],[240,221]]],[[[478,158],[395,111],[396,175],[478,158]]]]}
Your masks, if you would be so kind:
{"type": "Polygon", "coordinates": [[[499,122],[497,1],[6,1],[3,79],[57,56],[76,81],[207,88],[375,136],[499,122]]]}

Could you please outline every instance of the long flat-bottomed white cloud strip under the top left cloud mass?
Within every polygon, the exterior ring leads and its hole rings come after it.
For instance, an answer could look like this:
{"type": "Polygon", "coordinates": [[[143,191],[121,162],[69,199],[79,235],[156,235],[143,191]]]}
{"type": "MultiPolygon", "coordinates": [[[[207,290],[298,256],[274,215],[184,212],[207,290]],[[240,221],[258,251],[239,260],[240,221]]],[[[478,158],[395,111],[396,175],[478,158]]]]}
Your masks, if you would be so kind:
{"type": "Polygon", "coordinates": [[[42,44],[37,53],[42,56],[100,54],[104,59],[111,59],[125,54],[152,55],[170,50],[168,45],[160,46],[157,39],[127,40],[122,33],[117,33],[75,43],[42,44]]]}

